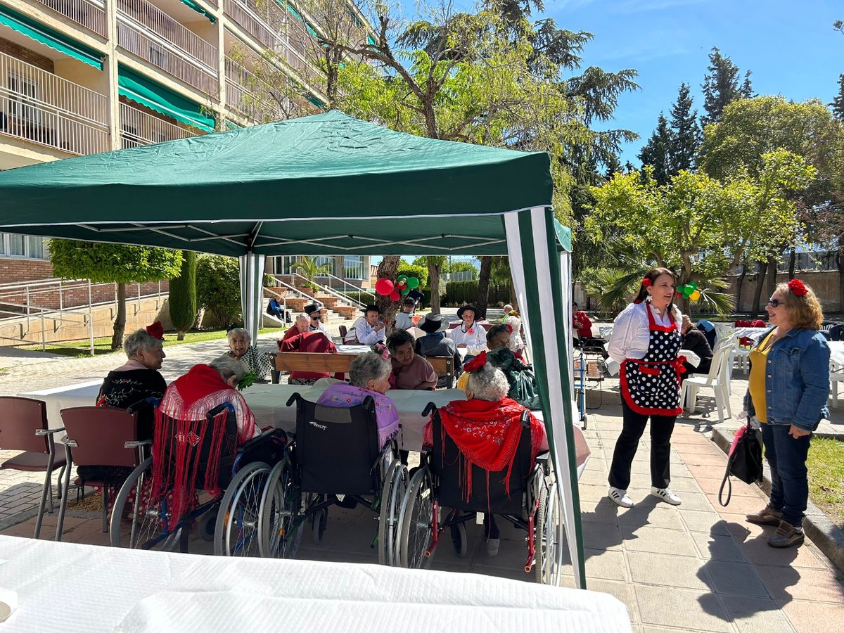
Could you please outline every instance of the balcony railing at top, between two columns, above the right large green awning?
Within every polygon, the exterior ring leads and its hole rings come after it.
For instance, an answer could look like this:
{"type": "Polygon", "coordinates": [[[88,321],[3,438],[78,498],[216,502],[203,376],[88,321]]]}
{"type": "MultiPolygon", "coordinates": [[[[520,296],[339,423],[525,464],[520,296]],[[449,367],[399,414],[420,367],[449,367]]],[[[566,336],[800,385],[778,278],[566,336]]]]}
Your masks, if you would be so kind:
{"type": "Polygon", "coordinates": [[[118,0],[117,44],[154,66],[214,95],[217,48],[146,0],[118,0]]]}

